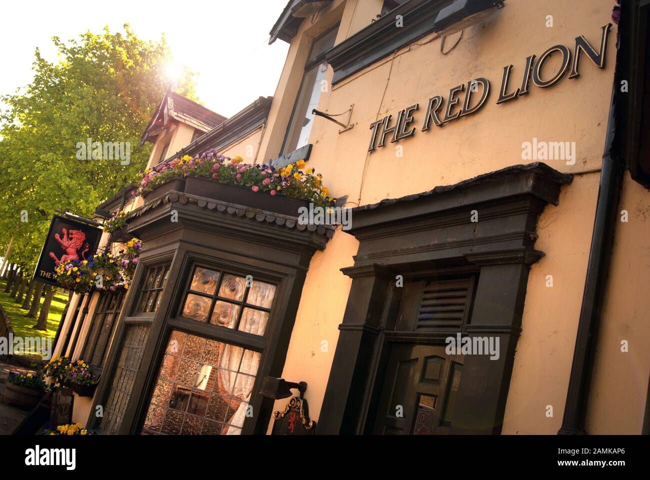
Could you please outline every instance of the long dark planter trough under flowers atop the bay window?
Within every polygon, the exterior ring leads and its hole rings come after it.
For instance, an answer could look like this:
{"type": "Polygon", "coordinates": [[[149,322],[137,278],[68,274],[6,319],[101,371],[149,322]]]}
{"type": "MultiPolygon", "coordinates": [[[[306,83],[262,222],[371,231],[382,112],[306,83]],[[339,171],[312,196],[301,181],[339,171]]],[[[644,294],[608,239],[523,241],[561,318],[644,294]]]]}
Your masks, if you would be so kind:
{"type": "MultiPolygon", "coordinates": [[[[153,193],[153,192],[152,192],[153,193]]],[[[243,205],[251,208],[280,213],[298,217],[300,207],[309,208],[309,202],[298,198],[283,195],[270,195],[268,192],[253,192],[248,187],[220,183],[209,178],[188,176],[185,178],[185,193],[214,198],[231,204],[243,205]]]]}

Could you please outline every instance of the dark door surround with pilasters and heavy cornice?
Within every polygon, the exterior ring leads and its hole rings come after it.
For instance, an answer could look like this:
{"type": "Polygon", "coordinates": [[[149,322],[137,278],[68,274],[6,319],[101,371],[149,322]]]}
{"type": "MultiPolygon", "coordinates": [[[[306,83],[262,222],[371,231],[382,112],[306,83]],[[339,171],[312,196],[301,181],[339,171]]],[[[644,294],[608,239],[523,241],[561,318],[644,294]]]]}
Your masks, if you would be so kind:
{"type": "Polygon", "coordinates": [[[402,295],[396,274],[417,280],[427,274],[440,278],[442,272],[478,278],[460,332],[495,336],[500,345],[498,360],[465,358],[452,432],[500,433],[528,269],[542,255],[534,249],[537,220],[570,181],[547,165],[517,165],[355,208],[350,233],[359,249],[354,266],[342,269],[352,285],[317,433],[372,433],[391,344],[445,345],[445,338],[456,335],[458,330],[415,326],[395,331],[393,325],[402,295]],[[478,223],[471,221],[472,210],[478,223]]]}

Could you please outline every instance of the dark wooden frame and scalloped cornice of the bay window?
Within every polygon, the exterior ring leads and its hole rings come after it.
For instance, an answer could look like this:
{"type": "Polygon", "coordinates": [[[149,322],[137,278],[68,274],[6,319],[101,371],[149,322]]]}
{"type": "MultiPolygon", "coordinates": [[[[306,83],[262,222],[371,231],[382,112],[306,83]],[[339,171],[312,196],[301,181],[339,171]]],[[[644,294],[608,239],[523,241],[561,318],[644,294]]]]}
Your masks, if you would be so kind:
{"type": "MultiPolygon", "coordinates": [[[[259,210],[254,212],[255,215],[248,215],[241,206],[233,207],[232,212],[229,210],[230,207],[216,208],[216,203],[209,199],[174,195],[166,197],[164,201],[151,202],[129,220],[130,231],[144,241],[146,249],[140,255],[133,282],[135,287],[129,290],[123,312],[133,312],[146,267],[170,258],[173,260],[155,315],[124,315],[118,324],[116,340],[110,348],[107,360],[109,372],[114,371],[116,366],[125,325],[136,322],[151,325],[140,369],[118,431],[120,434],[138,434],[142,429],[159,364],[172,329],[227,341],[262,353],[253,386],[253,417],[244,421],[242,433],[266,433],[274,402],[257,395],[257,391],[263,377],[279,377],[282,374],[309,261],[316,250],[324,248],[328,235],[319,233],[317,229],[287,228],[293,222],[289,218],[272,217],[273,221],[269,222],[263,215],[257,219],[259,210]],[[209,207],[208,203],[212,206],[209,207]],[[178,222],[170,222],[172,209],[178,213],[178,222]],[[235,214],[235,210],[241,210],[242,214],[235,214]],[[275,284],[276,298],[265,335],[232,331],[179,315],[181,297],[187,291],[194,265],[233,273],[252,272],[255,278],[275,284]]],[[[108,381],[100,382],[95,405],[105,401],[109,386],[108,381]]],[[[91,413],[91,419],[93,416],[91,413]]]]}

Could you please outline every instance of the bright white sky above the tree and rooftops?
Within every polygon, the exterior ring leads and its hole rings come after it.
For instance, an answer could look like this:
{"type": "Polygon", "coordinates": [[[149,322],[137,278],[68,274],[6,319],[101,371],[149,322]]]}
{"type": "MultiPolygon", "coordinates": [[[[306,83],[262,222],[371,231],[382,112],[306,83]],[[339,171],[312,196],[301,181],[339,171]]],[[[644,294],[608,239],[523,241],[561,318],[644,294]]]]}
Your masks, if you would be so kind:
{"type": "Polygon", "coordinates": [[[0,94],[14,93],[31,82],[37,46],[45,59],[57,60],[52,36],[69,40],[87,30],[101,33],[104,25],[114,33],[129,23],[144,40],[159,40],[164,33],[174,60],[200,74],[199,99],[228,117],[257,97],[275,93],[289,45],[281,40],[268,45],[268,32],[286,4],[287,0],[4,1],[0,94]]]}

